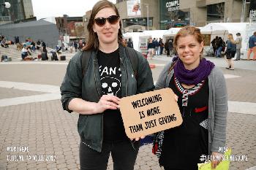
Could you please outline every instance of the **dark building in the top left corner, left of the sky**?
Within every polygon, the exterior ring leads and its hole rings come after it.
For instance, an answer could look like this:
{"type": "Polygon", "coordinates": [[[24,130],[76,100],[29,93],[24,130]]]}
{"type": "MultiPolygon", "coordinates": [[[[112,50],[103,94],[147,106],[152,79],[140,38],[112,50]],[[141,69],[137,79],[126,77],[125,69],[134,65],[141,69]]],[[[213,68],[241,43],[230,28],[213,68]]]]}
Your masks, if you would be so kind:
{"type": "MultiPolygon", "coordinates": [[[[0,0],[0,4],[4,4],[5,0],[0,0]]],[[[0,7],[0,24],[18,23],[26,20],[37,20],[34,17],[31,0],[8,0],[11,4],[9,9],[0,7]]]]}

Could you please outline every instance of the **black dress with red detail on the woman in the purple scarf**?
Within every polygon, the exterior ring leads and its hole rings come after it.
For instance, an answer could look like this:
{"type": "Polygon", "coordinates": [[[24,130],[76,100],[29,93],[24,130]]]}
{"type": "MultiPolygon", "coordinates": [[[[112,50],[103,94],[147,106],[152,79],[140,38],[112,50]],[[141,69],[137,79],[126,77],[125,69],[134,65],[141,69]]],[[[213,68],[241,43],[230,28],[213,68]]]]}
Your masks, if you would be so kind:
{"type": "Polygon", "coordinates": [[[165,131],[159,163],[170,169],[197,169],[200,155],[208,155],[208,79],[189,94],[187,107],[182,107],[181,93],[186,89],[174,76],[169,87],[178,96],[183,123],[165,131]]]}

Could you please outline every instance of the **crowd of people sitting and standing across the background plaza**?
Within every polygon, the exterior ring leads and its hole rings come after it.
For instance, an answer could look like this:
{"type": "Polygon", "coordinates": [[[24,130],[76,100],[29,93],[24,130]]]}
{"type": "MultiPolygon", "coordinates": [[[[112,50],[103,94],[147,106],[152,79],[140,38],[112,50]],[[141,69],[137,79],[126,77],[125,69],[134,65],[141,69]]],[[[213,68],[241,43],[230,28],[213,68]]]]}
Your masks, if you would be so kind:
{"type": "MultiPolygon", "coordinates": [[[[227,41],[225,42],[221,36],[216,36],[211,41],[211,46],[213,49],[213,55],[217,58],[224,57],[227,61],[227,68],[233,69],[233,58],[236,54],[235,61],[241,60],[241,42],[242,37],[240,33],[236,34],[236,40],[230,40],[230,37],[233,35],[228,34],[227,41]],[[229,44],[227,44],[229,42],[229,44]],[[230,49],[232,49],[232,55],[230,55],[230,49]],[[228,56],[227,56],[228,55],[228,56]],[[231,59],[230,59],[231,57],[231,59]]],[[[127,45],[127,47],[134,48],[132,39],[129,38],[123,39],[124,45],[127,45]]],[[[48,53],[46,50],[46,44],[44,41],[37,40],[37,42],[34,42],[32,39],[27,38],[26,42],[22,43],[19,40],[18,36],[15,36],[15,41],[7,41],[5,39],[4,35],[0,35],[0,45],[1,47],[8,48],[9,45],[16,45],[17,50],[21,51],[21,58],[23,60],[31,60],[32,53],[35,52],[35,50],[39,50],[41,53],[48,53]],[[28,59],[30,58],[30,59],[28,59]]],[[[75,53],[78,52],[78,50],[82,50],[83,47],[86,46],[86,42],[82,39],[75,40],[69,43],[61,42],[61,45],[56,46],[55,53],[60,54],[62,51],[68,51],[72,53],[73,49],[75,49],[75,53]]],[[[211,52],[212,53],[212,52],[211,52]]],[[[247,60],[250,60],[251,53],[254,53],[253,60],[256,60],[256,32],[249,37],[249,50],[247,52],[247,60]]],[[[146,57],[149,59],[152,59],[154,55],[167,55],[167,57],[171,57],[173,55],[176,55],[175,50],[173,50],[173,39],[168,38],[164,42],[164,39],[162,38],[148,38],[147,43],[147,54],[146,57]]]]}

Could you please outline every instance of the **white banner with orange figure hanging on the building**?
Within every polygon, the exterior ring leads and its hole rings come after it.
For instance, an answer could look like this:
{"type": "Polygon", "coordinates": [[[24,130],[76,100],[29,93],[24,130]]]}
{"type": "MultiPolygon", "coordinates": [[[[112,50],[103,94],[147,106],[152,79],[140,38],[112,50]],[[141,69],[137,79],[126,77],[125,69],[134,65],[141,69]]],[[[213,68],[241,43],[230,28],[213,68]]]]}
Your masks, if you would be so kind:
{"type": "Polygon", "coordinates": [[[127,16],[130,18],[141,17],[140,0],[127,1],[127,16]]]}

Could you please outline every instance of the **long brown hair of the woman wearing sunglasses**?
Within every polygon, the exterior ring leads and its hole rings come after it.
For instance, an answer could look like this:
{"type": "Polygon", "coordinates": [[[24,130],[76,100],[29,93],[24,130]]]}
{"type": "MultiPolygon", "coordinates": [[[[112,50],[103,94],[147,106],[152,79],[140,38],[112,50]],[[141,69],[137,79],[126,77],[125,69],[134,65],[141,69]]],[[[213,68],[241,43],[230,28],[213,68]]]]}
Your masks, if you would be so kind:
{"type": "MultiPolygon", "coordinates": [[[[94,18],[97,15],[97,13],[106,7],[112,8],[115,12],[116,15],[119,16],[118,9],[116,8],[115,4],[113,4],[110,1],[102,0],[98,1],[94,7],[91,10],[91,16],[89,19],[89,23],[87,26],[87,30],[89,31],[89,39],[88,42],[86,43],[86,47],[83,47],[83,50],[98,50],[99,49],[99,39],[97,36],[97,33],[94,32],[93,26],[94,26],[94,18]]],[[[119,30],[118,30],[118,43],[122,44],[122,34],[121,34],[121,21],[119,22],[119,30]]]]}

